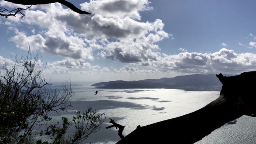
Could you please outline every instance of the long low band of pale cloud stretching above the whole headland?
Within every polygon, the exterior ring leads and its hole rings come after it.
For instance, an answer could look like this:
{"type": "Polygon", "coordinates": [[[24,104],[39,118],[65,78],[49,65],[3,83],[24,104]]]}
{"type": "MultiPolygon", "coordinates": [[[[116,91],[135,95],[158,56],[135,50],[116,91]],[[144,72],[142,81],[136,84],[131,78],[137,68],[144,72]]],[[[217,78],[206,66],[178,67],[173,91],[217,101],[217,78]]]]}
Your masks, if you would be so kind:
{"type": "Polygon", "coordinates": [[[158,60],[149,63],[147,67],[140,65],[124,65],[118,69],[105,66],[101,68],[88,62],[62,60],[50,63],[46,73],[49,76],[54,73],[68,74],[76,80],[82,80],[81,78],[89,80],[90,76],[94,76],[100,81],[142,80],[184,74],[240,74],[256,70],[256,54],[236,54],[233,50],[222,48],[214,53],[182,52],[177,55],[162,55],[158,60]],[[81,71],[77,71],[77,68],[81,71]]]}

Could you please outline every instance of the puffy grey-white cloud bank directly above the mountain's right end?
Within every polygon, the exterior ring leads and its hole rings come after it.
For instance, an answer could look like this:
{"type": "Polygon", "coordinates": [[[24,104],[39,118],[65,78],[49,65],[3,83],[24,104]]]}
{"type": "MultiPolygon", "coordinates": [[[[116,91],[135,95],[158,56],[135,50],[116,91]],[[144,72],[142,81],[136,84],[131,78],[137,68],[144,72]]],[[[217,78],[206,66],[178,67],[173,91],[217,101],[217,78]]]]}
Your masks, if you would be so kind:
{"type": "Polygon", "coordinates": [[[233,50],[222,48],[214,53],[182,52],[178,55],[167,55],[155,67],[185,73],[237,73],[255,70],[256,54],[236,54],[233,50]]]}

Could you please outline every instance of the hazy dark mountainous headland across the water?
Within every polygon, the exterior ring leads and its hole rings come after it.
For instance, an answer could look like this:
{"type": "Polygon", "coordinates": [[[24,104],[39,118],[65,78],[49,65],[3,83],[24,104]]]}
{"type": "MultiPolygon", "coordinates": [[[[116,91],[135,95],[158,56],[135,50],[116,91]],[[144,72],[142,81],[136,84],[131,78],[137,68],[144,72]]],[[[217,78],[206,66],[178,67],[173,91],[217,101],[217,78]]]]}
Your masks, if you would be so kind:
{"type": "MultiPolygon", "coordinates": [[[[234,76],[234,75],[225,75],[234,76]]],[[[116,80],[92,84],[97,88],[170,88],[195,91],[220,91],[222,83],[216,74],[192,74],[174,78],[146,79],[138,81],[116,80]]]]}

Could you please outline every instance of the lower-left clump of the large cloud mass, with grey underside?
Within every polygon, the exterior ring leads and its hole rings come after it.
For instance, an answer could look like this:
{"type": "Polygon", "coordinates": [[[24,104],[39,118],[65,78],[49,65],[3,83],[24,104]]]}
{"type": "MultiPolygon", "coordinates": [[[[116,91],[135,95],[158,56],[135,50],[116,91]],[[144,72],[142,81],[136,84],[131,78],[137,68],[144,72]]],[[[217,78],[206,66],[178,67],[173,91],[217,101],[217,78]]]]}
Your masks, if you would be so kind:
{"type": "Polygon", "coordinates": [[[16,36],[10,38],[16,46],[27,50],[28,44],[31,50],[41,50],[48,54],[60,55],[65,58],[93,60],[92,49],[87,48],[84,40],[75,36],[56,36],[52,30],[45,33],[45,38],[41,34],[26,36],[24,32],[18,32],[16,36]]]}

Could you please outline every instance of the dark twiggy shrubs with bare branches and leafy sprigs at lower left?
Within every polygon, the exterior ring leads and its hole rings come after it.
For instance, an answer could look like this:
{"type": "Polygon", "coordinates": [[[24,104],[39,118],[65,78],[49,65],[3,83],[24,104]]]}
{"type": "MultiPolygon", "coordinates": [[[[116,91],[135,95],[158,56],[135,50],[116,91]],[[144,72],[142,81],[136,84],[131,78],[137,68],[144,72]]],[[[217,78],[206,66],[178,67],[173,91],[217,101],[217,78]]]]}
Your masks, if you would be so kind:
{"type": "MultiPolygon", "coordinates": [[[[13,59],[8,65],[4,60],[0,71],[0,143],[19,144],[35,143],[34,136],[41,126],[52,119],[50,112],[59,113],[72,107],[69,98],[74,96],[71,83],[62,83],[62,90],[52,90],[52,85],[42,76],[46,64],[42,64],[42,57],[38,53],[32,55],[28,49],[26,56],[13,59]]],[[[104,114],[98,114],[88,108],[80,115],[73,117],[74,136],[65,140],[67,130],[72,121],[62,117],[62,127],[50,125],[40,134],[52,135],[52,144],[80,143],[91,133],[96,132],[104,122],[104,114]]],[[[36,144],[46,144],[37,140],[36,144]]]]}

